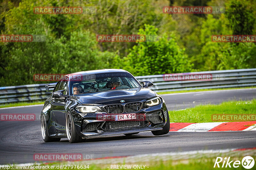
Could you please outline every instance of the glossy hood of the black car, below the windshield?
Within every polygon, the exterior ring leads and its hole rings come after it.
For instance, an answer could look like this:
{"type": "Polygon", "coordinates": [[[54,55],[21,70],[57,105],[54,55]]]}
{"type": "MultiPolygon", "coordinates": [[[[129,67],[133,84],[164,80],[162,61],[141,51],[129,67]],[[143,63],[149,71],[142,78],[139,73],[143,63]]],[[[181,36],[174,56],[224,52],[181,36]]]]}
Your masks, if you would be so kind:
{"type": "Polygon", "coordinates": [[[76,99],[83,104],[110,104],[116,103],[117,101],[118,103],[120,103],[120,100],[126,100],[125,102],[131,102],[134,101],[134,99],[143,100],[154,96],[156,96],[155,92],[150,89],[133,88],[85,93],[72,96],[71,98],[76,99]]]}

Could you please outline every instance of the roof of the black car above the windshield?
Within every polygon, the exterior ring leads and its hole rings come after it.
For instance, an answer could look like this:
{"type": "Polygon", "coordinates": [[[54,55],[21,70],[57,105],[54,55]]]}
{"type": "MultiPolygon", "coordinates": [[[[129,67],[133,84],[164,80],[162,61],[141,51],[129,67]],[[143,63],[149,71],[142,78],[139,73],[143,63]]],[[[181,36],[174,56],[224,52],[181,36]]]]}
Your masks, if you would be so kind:
{"type": "Polygon", "coordinates": [[[84,76],[84,75],[98,74],[98,73],[110,73],[110,72],[124,72],[124,73],[128,73],[128,71],[123,70],[123,69],[113,69],[113,68],[110,68],[110,69],[81,71],[81,72],[77,72],[77,73],[67,74],[65,76],[67,76],[69,78],[74,78],[76,76],[84,76]]]}

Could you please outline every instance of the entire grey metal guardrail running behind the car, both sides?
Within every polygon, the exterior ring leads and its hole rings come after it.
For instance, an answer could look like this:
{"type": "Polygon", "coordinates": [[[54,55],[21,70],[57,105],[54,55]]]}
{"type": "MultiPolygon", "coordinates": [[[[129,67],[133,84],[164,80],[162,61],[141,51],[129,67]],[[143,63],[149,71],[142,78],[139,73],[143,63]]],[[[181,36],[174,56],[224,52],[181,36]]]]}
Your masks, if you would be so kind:
{"type": "MultiPolygon", "coordinates": [[[[155,92],[180,91],[193,89],[215,89],[231,87],[256,86],[256,68],[202,71],[193,73],[180,73],[179,75],[211,74],[210,80],[183,80],[168,81],[165,74],[137,76],[139,81],[148,80],[154,83],[149,89],[155,92]]],[[[172,74],[173,75],[173,74],[172,74]]],[[[177,74],[176,74],[177,75],[177,74]]],[[[55,85],[50,83],[49,85],[55,85]]],[[[30,84],[22,86],[0,87],[0,104],[46,99],[51,92],[45,91],[45,84],[30,84]]]]}

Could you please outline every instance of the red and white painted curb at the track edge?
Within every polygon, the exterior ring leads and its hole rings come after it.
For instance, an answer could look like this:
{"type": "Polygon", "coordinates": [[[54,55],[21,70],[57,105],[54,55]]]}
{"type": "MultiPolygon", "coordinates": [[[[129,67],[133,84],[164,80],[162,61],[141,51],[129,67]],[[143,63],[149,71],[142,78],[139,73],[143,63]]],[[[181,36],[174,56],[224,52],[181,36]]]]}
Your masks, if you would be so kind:
{"type": "Polygon", "coordinates": [[[250,122],[210,122],[210,123],[170,123],[170,131],[256,131],[256,121],[250,122]]]}

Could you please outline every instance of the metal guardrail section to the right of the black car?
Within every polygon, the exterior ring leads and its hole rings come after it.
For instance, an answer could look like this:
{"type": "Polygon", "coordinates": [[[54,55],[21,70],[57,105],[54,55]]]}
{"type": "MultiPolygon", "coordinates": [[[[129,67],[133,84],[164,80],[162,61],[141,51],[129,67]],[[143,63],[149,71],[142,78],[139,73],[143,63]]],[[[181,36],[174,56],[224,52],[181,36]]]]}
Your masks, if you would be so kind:
{"type": "Polygon", "coordinates": [[[138,76],[136,78],[139,81],[152,81],[154,86],[150,89],[156,92],[256,86],[256,68],[182,74],[211,74],[212,79],[209,81],[164,81],[163,74],[138,76]]]}

